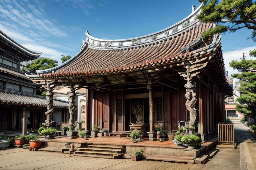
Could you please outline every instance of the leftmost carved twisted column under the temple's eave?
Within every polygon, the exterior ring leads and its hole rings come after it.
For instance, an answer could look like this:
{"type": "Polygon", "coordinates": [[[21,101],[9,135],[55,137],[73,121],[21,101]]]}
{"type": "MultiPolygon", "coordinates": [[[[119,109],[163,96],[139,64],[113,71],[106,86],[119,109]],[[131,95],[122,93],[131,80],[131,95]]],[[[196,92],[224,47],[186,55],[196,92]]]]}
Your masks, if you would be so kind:
{"type": "Polygon", "coordinates": [[[53,93],[52,90],[55,88],[55,84],[46,84],[42,85],[46,91],[46,100],[47,100],[47,112],[45,112],[46,120],[45,123],[42,123],[42,126],[49,127],[53,122],[50,122],[50,116],[53,113],[53,93]]]}

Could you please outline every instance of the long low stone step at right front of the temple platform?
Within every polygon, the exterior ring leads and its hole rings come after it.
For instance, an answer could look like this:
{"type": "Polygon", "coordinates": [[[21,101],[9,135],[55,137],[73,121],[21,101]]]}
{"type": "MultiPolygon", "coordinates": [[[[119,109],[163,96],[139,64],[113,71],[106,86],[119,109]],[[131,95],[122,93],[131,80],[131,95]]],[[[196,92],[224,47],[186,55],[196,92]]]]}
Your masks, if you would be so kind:
{"type": "Polygon", "coordinates": [[[188,163],[189,160],[193,160],[195,157],[185,157],[185,156],[171,156],[171,155],[147,155],[146,159],[149,160],[159,160],[159,161],[171,161],[171,162],[181,162],[188,163]]]}

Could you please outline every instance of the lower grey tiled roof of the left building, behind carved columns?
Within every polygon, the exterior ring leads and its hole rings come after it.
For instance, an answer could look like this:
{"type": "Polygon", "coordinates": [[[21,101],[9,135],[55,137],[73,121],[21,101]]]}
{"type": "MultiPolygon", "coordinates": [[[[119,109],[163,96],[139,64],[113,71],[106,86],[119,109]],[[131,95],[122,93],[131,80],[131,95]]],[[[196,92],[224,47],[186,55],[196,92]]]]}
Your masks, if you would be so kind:
{"type": "MultiPolygon", "coordinates": [[[[33,96],[20,93],[0,91],[0,104],[46,107],[47,100],[43,96],[33,96]]],[[[53,107],[68,108],[68,102],[54,99],[53,107]]]]}

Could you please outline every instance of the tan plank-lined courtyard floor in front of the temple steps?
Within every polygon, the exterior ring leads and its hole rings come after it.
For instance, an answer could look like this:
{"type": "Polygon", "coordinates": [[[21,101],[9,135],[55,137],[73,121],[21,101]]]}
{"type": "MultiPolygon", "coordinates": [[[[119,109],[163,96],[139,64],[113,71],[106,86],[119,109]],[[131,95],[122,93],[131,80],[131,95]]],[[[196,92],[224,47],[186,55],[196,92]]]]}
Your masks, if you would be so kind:
{"type": "Polygon", "coordinates": [[[23,148],[0,150],[0,170],[201,170],[203,165],[163,161],[132,161],[32,152],[23,148]]]}

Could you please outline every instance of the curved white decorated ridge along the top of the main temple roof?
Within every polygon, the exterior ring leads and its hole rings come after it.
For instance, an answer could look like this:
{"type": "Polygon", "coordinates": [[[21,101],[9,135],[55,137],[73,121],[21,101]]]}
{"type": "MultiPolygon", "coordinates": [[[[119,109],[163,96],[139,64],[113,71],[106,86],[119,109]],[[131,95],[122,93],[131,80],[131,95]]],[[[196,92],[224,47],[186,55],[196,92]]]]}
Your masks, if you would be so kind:
{"type": "Polygon", "coordinates": [[[98,39],[89,34],[89,32],[86,30],[85,35],[87,36],[86,42],[90,46],[93,46],[95,48],[118,48],[118,47],[126,47],[126,46],[137,46],[142,45],[149,42],[154,42],[159,39],[167,38],[170,36],[173,36],[174,34],[181,33],[184,31],[187,27],[194,25],[197,21],[195,16],[196,14],[200,13],[202,8],[202,4],[189,16],[184,18],[183,20],[177,22],[176,24],[165,28],[161,31],[148,34],[141,37],[136,38],[130,38],[130,39],[120,39],[120,40],[104,40],[104,39],[98,39]]]}

